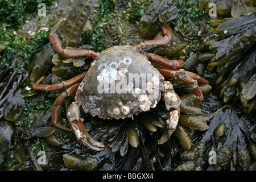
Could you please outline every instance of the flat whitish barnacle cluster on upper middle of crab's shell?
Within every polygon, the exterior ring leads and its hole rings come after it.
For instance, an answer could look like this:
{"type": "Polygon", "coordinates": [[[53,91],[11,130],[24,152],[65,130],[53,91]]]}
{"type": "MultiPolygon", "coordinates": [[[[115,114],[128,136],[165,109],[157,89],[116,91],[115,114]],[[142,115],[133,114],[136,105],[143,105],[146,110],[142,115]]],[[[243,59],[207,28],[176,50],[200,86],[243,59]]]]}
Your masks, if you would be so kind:
{"type": "Polygon", "coordinates": [[[100,64],[98,70],[102,69],[101,73],[97,76],[97,81],[106,83],[120,80],[128,72],[128,66],[133,62],[130,56],[123,57],[121,61],[113,61],[108,65],[106,63],[100,64]]]}

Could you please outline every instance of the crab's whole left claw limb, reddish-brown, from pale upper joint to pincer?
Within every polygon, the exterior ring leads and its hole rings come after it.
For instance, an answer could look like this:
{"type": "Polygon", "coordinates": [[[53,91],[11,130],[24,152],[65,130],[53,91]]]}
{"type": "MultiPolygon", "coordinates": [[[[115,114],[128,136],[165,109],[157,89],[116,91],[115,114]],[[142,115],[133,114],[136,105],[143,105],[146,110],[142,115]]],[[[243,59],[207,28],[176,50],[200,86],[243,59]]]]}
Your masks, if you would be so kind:
{"type": "Polygon", "coordinates": [[[102,151],[104,150],[104,144],[101,144],[96,139],[94,139],[90,134],[87,132],[84,123],[82,121],[83,118],[80,118],[80,107],[77,104],[77,100],[75,97],[75,101],[68,107],[67,117],[69,123],[71,124],[71,129],[75,134],[77,140],[82,142],[85,146],[91,148],[92,150],[102,151]]]}

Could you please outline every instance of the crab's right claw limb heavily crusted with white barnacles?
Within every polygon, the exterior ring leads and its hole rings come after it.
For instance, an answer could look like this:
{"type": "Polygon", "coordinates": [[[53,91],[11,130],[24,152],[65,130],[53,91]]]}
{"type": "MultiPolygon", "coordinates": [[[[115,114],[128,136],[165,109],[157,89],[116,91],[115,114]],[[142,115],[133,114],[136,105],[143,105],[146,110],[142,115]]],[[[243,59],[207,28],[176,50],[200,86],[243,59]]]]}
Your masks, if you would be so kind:
{"type": "Polygon", "coordinates": [[[179,96],[174,92],[174,87],[170,81],[164,81],[163,98],[166,104],[166,109],[168,110],[168,117],[166,120],[167,130],[159,139],[158,144],[167,142],[172,133],[174,133],[180,118],[181,100],[179,96]]]}

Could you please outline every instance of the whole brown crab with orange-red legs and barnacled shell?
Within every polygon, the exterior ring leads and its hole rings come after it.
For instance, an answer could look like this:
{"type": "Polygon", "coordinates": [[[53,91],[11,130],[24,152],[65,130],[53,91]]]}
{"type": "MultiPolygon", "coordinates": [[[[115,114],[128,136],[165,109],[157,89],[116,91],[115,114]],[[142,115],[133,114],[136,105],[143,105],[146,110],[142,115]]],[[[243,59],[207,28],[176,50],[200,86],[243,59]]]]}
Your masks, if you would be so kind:
{"type": "Polygon", "coordinates": [[[84,126],[80,109],[104,119],[124,119],[148,111],[163,98],[168,117],[167,129],[159,139],[159,144],[168,140],[175,131],[180,117],[179,96],[174,92],[170,81],[164,77],[179,79],[188,84],[197,97],[195,105],[203,101],[204,96],[198,82],[208,84],[203,77],[184,71],[182,60],[168,60],[164,57],[148,53],[143,49],[170,44],[172,32],[167,22],[162,24],[164,37],[142,42],[137,46],[114,46],[102,52],[89,49],[64,49],[55,34],[61,19],[51,30],[49,42],[55,52],[64,57],[92,57],[91,67],[70,80],[59,84],[43,85],[40,78],[32,86],[35,90],[55,91],[65,89],[56,98],[52,110],[52,123],[61,129],[72,131],[77,140],[92,150],[104,150],[104,144],[94,139],[84,126]],[[154,67],[152,66],[154,64],[154,67]],[[65,97],[75,94],[75,99],[68,107],[67,118],[71,129],[58,122],[61,105],[65,97]]]}

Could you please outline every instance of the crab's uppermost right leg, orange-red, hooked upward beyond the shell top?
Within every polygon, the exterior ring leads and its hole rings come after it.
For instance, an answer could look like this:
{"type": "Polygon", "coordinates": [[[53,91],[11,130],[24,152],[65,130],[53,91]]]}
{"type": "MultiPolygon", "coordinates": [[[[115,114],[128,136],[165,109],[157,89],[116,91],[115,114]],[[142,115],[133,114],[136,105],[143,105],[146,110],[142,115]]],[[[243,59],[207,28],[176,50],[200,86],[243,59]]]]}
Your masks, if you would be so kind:
{"type": "Polygon", "coordinates": [[[144,48],[147,47],[164,46],[170,44],[170,42],[172,41],[172,32],[167,22],[163,23],[162,30],[165,35],[163,38],[142,42],[138,46],[134,46],[134,49],[138,52],[141,52],[144,48]]]}

